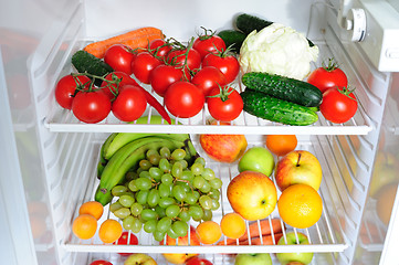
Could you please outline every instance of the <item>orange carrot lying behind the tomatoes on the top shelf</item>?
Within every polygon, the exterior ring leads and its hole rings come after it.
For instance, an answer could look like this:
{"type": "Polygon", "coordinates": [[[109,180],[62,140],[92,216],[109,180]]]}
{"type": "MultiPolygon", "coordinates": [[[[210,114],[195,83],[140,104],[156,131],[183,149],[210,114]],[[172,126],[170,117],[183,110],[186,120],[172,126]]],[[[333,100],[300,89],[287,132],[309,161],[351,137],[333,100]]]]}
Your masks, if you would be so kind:
{"type": "Polygon", "coordinates": [[[148,43],[153,40],[164,38],[161,30],[153,26],[144,26],[103,41],[93,42],[83,50],[96,57],[103,59],[106,50],[114,44],[124,44],[130,49],[147,47],[148,43]]]}

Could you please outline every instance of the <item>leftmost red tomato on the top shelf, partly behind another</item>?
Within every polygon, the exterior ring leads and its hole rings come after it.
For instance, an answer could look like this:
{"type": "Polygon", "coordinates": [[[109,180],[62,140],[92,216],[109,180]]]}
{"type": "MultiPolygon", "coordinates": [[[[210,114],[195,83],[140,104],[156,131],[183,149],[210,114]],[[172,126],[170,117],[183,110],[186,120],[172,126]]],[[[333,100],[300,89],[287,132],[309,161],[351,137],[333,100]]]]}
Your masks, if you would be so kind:
{"type": "Polygon", "coordinates": [[[55,86],[55,100],[61,107],[72,109],[72,102],[74,99],[76,89],[87,89],[91,80],[85,75],[73,76],[65,75],[55,86]]]}

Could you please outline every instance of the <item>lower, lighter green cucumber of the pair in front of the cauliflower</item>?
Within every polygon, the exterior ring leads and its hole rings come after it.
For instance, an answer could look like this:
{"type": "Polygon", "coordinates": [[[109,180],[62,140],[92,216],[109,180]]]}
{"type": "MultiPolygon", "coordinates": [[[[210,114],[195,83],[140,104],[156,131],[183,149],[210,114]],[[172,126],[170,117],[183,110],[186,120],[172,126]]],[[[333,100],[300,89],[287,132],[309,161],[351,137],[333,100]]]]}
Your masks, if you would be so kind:
{"type": "Polygon", "coordinates": [[[244,110],[263,119],[295,126],[311,125],[318,119],[317,114],[308,107],[267,96],[262,92],[246,88],[240,95],[244,110]]]}

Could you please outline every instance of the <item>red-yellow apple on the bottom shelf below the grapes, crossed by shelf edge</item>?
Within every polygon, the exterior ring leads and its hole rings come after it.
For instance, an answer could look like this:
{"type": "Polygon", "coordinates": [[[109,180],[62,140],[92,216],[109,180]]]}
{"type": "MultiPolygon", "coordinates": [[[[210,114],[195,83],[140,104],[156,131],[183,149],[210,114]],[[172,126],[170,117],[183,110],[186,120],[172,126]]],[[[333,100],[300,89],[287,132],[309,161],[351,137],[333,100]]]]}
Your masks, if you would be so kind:
{"type": "MultiPolygon", "coordinates": [[[[188,234],[190,234],[190,245],[200,245],[200,240],[197,234],[196,227],[190,225],[190,233],[187,233],[186,236],[178,237],[178,245],[189,245],[188,234]]],[[[165,240],[160,242],[165,244],[165,240]]],[[[166,236],[166,245],[176,245],[176,240],[170,236],[166,236]]],[[[162,253],[166,261],[171,264],[185,264],[190,257],[198,256],[199,254],[192,253],[162,253]]]]}

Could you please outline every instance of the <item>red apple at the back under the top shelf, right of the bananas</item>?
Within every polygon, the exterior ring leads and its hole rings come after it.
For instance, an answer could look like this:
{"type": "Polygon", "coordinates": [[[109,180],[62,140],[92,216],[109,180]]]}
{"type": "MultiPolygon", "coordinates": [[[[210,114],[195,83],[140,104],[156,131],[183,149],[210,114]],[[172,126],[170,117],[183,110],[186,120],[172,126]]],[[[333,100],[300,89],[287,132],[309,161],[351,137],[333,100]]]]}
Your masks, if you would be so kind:
{"type": "Polygon", "coordinates": [[[203,151],[219,162],[234,162],[244,153],[248,142],[243,135],[200,135],[203,151]]]}

